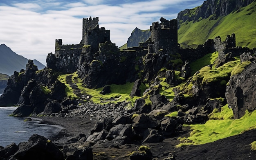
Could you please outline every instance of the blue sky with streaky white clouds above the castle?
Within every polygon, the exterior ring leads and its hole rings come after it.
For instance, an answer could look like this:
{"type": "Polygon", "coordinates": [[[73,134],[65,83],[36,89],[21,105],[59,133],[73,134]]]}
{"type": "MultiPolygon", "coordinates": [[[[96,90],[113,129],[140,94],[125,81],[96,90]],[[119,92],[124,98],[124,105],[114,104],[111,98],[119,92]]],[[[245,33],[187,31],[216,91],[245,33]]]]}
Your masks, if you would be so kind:
{"type": "Polygon", "coordinates": [[[110,30],[118,47],[126,43],[135,27],[149,29],[161,17],[177,18],[184,9],[204,0],[0,0],[0,44],[27,59],[46,65],[54,53],[55,39],[79,44],[82,18],[99,17],[99,27],[110,30]]]}

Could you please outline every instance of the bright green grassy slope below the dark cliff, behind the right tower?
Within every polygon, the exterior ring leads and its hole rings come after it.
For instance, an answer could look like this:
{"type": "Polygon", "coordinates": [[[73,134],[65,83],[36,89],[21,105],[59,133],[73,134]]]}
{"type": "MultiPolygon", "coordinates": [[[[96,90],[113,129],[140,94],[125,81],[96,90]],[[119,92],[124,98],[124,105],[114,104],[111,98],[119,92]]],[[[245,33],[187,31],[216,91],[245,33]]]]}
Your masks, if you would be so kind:
{"type": "MultiPolygon", "coordinates": [[[[192,9],[189,14],[195,14],[192,9]]],[[[198,22],[184,22],[178,30],[178,42],[183,46],[196,48],[207,39],[220,36],[222,41],[227,35],[236,34],[236,46],[256,47],[256,2],[243,7],[225,17],[217,20],[207,19],[198,22]]]]}

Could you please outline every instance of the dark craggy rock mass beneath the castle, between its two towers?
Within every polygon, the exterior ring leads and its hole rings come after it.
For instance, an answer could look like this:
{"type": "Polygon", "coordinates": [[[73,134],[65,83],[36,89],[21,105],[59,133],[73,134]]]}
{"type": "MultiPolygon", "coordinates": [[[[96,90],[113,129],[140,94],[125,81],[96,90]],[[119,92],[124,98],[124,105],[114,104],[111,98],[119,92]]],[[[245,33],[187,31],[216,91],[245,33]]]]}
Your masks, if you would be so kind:
{"type": "Polygon", "coordinates": [[[146,55],[144,50],[119,51],[115,44],[110,42],[99,44],[99,52],[92,53],[90,46],[83,48],[80,57],[78,75],[88,88],[100,88],[105,85],[125,84],[134,82],[137,77],[136,57],[146,55]],[[93,58],[92,58],[93,57],[93,58]]]}

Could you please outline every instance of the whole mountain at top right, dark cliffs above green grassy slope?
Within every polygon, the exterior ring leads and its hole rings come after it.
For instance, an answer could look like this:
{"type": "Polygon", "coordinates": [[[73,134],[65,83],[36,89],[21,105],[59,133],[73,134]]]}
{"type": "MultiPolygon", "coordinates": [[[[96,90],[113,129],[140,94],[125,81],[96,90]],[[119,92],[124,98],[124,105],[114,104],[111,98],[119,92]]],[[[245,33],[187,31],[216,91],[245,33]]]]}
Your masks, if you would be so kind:
{"type": "MultiPolygon", "coordinates": [[[[255,0],[207,0],[177,15],[178,42],[196,48],[207,39],[236,34],[236,46],[256,47],[255,0]]],[[[225,39],[222,39],[225,40],[225,39]]]]}

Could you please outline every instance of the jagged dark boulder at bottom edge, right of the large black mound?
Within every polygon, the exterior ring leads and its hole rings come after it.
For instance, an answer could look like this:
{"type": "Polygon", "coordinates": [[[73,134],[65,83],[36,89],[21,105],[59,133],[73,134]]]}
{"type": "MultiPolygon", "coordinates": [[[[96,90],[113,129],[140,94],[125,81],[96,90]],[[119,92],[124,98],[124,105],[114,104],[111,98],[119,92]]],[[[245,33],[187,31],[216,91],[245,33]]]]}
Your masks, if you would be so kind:
{"type": "Polygon", "coordinates": [[[93,160],[92,149],[79,144],[63,146],[65,160],[93,160]]]}

